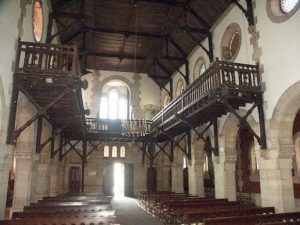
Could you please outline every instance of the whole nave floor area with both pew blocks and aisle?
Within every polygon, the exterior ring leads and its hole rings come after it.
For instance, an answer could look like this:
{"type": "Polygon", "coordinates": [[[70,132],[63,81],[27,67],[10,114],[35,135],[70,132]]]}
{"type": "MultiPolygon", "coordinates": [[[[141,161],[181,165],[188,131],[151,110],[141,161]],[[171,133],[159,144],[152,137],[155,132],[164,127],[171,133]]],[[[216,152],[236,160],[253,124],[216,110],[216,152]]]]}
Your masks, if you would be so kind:
{"type": "Polygon", "coordinates": [[[274,207],[256,207],[228,199],[184,193],[141,192],[138,200],[73,193],[44,197],[14,212],[0,225],[296,225],[300,212],[275,213],[274,207]]]}

